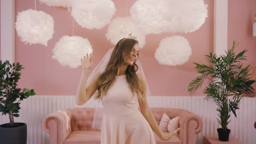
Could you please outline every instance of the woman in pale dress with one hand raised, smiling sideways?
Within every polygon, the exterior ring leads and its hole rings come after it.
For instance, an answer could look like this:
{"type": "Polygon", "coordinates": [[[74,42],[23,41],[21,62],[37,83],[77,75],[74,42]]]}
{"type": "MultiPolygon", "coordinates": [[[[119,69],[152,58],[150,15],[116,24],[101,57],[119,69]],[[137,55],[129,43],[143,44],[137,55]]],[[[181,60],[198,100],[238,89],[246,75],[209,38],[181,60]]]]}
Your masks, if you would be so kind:
{"type": "Polygon", "coordinates": [[[101,143],[155,143],[153,131],[161,140],[169,140],[181,128],[163,134],[147,102],[147,82],[138,73],[135,63],[139,56],[138,41],[124,38],[118,41],[111,53],[106,69],[97,73],[88,86],[92,55],[81,59],[82,76],[77,89],[76,103],[83,105],[92,95],[100,99],[104,107],[101,127],[101,143]],[[141,112],[137,109],[137,104],[141,112]],[[152,131],[153,130],[153,131],[152,131]]]}

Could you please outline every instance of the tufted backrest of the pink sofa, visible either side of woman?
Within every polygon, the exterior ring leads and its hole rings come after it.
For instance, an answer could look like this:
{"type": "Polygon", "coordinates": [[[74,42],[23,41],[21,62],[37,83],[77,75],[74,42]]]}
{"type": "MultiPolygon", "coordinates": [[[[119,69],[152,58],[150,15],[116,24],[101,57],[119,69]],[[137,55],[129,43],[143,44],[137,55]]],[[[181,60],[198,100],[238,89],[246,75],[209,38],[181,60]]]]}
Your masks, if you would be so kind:
{"type": "MultiPolygon", "coordinates": [[[[172,108],[150,108],[159,124],[163,113],[165,112],[170,118],[180,116],[181,113],[191,113],[186,110],[172,109],[172,108]]],[[[73,108],[66,109],[67,115],[71,118],[71,129],[72,131],[100,131],[98,129],[92,128],[92,121],[94,119],[94,108],[73,108]]]]}

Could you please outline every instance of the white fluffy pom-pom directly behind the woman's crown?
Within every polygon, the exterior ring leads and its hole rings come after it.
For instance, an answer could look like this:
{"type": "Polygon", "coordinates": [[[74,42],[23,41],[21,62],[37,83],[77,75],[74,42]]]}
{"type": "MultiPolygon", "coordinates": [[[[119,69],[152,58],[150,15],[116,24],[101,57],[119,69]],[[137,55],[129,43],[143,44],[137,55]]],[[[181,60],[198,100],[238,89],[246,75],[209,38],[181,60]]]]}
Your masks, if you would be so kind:
{"type": "Polygon", "coordinates": [[[146,35],[139,29],[131,17],[117,17],[113,19],[108,26],[106,38],[112,44],[117,44],[120,39],[129,37],[129,34],[136,37],[138,46],[141,49],[146,43],[146,35]]]}

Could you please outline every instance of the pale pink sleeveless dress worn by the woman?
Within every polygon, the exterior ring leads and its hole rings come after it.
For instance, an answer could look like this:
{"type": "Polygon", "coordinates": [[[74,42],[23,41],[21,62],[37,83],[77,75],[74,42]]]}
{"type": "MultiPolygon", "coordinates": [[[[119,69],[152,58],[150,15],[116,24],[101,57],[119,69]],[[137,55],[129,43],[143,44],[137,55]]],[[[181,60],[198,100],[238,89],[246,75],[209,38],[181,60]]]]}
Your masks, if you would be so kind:
{"type": "Polygon", "coordinates": [[[138,110],[137,97],[132,94],[126,75],[116,76],[102,104],[101,144],[156,143],[152,128],[138,110]]]}

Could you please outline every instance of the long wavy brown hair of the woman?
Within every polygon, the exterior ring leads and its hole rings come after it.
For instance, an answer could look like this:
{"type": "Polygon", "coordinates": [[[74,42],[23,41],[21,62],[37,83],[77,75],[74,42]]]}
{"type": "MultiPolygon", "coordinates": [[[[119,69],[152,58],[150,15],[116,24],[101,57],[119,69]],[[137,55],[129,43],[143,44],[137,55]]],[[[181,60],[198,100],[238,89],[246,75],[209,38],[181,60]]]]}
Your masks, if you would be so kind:
{"type": "MultiPolygon", "coordinates": [[[[117,76],[119,65],[122,65],[127,61],[135,44],[138,44],[137,40],[124,38],[120,39],[115,45],[106,69],[103,71],[97,82],[98,92],[95,95],[95,99],[102,99],[103,96],[107,94],[108,89],[115,81],[115,76],[117,76]]],[[[133,65],[128,65],[127,69],[125,70],[126,80],[132,93],[136,93],[138,99],[144,100],[142,97],[144,92],[141,87],[139,87],[138,76],[136,74],[137,70],[138,66],[136,62],[134,62],[133,65]]]]}

